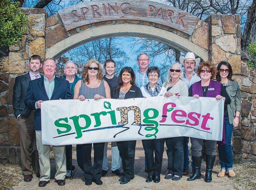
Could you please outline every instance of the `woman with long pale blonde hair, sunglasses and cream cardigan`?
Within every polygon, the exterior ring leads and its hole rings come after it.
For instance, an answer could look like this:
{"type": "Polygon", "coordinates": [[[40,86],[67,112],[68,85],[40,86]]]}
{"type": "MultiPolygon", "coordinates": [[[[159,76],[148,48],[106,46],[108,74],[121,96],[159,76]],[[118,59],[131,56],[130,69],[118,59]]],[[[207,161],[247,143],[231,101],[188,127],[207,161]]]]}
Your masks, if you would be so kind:
{"type": "MultiPolygon", "coordinates": [[[[188,96],[187,84],[182,80],[182,66],[179,63],[170,65],[166,81],[163,84],[167,88],[164,97],[188,96]]],[[[177,181],[182,178],[184,162],[183,141],[184,137],[173,137],[165,140],[168,157],[168,174],[164,177],[165,179],[177,181]]]]}

